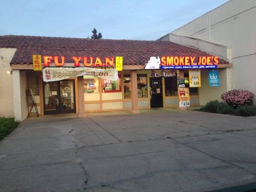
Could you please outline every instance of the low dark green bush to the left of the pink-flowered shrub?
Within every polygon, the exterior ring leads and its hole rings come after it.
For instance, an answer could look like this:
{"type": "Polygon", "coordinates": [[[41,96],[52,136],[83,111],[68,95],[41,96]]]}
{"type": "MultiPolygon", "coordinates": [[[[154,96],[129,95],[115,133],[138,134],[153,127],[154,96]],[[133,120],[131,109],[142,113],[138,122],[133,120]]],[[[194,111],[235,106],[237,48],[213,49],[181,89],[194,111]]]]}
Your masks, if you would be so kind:
{"type": "Polygon", "coordinates": [[[233,114],[234,109],[226,103],[219,102],[218,100],[208,102],[201,111],[210,113],[220,113],[220,114],[233,114]]]}

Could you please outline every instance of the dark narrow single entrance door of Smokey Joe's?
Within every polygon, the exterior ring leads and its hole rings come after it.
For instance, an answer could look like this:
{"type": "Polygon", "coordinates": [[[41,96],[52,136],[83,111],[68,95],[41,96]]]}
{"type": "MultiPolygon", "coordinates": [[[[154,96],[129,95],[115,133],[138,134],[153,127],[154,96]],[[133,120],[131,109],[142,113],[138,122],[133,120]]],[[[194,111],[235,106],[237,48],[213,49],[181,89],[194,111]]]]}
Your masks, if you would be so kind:
{"type": "Polygon", "coordinates": [[[162,78],[150,78],[150,107],[162,108],[163,107],[163,93],[162,93],[162,78]]]}

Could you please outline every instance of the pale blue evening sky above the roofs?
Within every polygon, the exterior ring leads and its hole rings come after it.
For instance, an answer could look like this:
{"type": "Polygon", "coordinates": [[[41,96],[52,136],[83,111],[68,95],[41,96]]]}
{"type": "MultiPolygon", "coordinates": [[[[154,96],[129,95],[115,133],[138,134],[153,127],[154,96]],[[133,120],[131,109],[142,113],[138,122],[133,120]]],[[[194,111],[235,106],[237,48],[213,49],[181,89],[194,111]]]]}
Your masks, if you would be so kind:
{"type": "Polygon", "coordinates": [[[228,0],[0,0],[0,35],[156,40],[228,0]]]}

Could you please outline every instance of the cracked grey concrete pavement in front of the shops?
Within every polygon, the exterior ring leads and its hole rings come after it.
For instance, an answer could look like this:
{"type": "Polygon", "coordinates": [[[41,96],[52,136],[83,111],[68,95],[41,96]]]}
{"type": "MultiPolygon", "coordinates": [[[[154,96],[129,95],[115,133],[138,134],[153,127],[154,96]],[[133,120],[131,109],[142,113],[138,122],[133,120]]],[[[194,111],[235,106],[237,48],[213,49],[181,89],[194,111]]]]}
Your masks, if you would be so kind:
{"type": "Polygon", "coordinates": [[[0,142],[1,192],[203,192],[256,182],[256,117],[171,108],[28,118],[0,142]]]}

